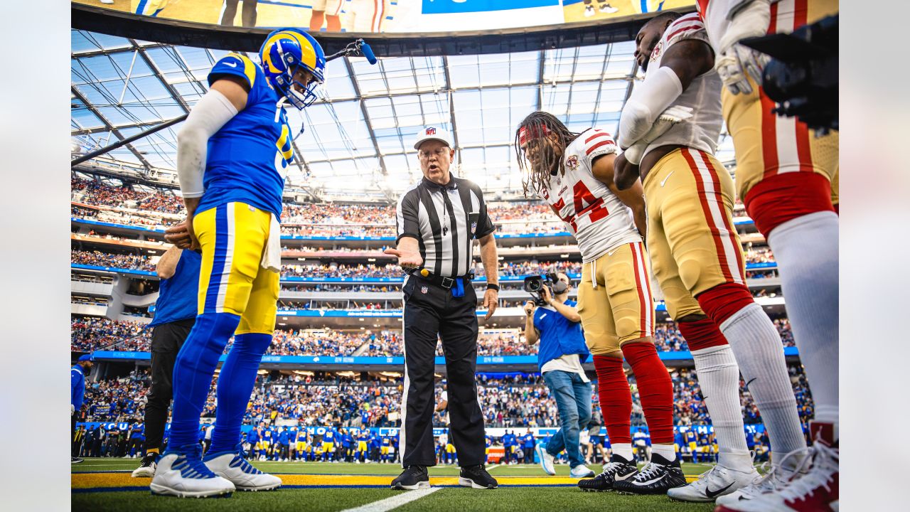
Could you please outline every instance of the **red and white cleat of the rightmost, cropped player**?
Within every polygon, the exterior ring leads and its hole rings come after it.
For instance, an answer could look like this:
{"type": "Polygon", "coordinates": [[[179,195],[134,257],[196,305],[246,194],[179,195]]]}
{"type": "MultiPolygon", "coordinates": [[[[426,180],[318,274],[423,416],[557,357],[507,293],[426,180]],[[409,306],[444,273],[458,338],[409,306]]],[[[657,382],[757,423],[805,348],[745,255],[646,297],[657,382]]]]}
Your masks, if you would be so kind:
{"type": "MultiPolygon", "coordinates": [[[[838,510],[840,507],[840,450],[816,443],[806,449],[812,467],[799,474],[797,468],[783,489],[753,499],[723,503],[722,512],[794,512],[797,510],[838,510]]],[[[802,451],[802,450],[801,450],[802,451]]],[[[784,457],[785,458],[785,457],[784,457]]]]}

